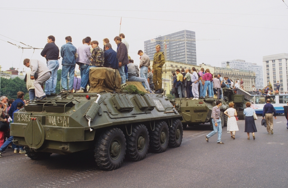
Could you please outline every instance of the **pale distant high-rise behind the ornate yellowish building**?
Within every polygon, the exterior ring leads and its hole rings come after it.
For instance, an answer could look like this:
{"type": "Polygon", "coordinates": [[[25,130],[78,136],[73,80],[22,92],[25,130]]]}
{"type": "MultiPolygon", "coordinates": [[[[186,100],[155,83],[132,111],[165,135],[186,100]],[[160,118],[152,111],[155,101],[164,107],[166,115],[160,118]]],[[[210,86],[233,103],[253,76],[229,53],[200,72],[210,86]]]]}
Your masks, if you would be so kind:
{"type": "MultiPolygon", "coordinates": [[[[238,70],[248,70],[255,72],[255,87],[263,88],[263,67],[262,65],[257,65],[256,63],[246,62],[245,60],[236,59],[226,62],[221,62],[221,67],[230,68],[230,69],[238,69],[238,70]],[[227,64],[229,62],[229,65],[227,64]]],[[[243,79],[243,78],[242,78],[243,79]]]]}

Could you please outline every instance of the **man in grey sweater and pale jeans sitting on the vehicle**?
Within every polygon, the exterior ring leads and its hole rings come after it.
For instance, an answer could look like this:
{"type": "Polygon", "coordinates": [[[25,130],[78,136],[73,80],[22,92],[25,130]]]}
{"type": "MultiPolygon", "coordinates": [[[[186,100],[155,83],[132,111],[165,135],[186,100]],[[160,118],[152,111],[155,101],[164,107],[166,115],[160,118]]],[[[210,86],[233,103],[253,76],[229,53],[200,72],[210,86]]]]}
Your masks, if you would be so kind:
{"type": "Polygon", "coordinates": [[[139,69],[138,69],[138,65],[134,64],[133,59],[129,59],[129,64],[127,65],[128,67],[128,81],[129,82],[142,82],[142,84],[144,83],[147,87],[147,91],[149,93],[153,93],[149,87],[149,83],[147,81],[147,79],[145,78],[139,78],[139,69]]]}

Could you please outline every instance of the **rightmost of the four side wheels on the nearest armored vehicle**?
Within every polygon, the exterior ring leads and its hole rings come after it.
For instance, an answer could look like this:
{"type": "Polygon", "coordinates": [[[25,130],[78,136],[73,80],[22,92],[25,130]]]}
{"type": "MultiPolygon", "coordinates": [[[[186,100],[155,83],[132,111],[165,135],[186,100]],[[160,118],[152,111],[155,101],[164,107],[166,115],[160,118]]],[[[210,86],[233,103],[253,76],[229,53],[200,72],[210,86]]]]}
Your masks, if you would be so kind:
{"type": "Polygon", "coordinates": [[[179,147],[183,138],[182,123],[179,119],[174,119],[172,127],[169,127],[169,147],[179,147]]]}

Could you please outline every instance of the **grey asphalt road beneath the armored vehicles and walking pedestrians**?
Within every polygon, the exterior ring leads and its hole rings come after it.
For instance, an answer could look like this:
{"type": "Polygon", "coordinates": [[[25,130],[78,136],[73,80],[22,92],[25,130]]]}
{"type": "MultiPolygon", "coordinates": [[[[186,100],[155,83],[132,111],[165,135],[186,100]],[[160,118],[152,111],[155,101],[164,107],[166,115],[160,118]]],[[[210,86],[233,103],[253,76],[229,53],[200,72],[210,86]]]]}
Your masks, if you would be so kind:
{"type": "Polygon", "coordinates": [[[31,160],[7,149],[0,158],[0,187],[288,187],[288,130],[285,116],[274,120],[268,135],[258,116],[256,139],[247,140],[244,120],[236,139],[227,128],[205,140],[209,125],[188,127],[178,148],[149,153],[142,161],[124,161],[120,169],[97,169],[93,152],[53,154],[31,160]]]}

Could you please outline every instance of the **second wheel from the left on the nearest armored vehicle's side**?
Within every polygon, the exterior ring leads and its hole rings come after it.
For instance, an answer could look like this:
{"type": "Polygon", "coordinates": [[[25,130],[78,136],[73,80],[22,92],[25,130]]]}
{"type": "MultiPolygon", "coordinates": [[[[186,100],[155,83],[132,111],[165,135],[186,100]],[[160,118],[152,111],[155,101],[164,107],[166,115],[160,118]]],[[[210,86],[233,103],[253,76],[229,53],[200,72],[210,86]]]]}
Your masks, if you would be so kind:
{"type": "Polygon", "coordinates": [[[149,148],[149,133],[147,127],[139,124],[133,126],[132,134],[126,135],[126,156],[133,161],[145,158],[149,148]]]}

